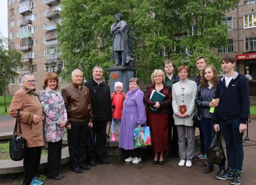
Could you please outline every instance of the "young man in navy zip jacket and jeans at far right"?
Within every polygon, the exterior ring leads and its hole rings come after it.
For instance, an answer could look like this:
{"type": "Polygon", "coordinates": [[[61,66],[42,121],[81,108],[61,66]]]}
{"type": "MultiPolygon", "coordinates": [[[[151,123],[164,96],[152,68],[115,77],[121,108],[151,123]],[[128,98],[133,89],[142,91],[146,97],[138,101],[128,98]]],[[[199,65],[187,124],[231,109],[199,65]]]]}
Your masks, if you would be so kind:
{"type": "Polygon", "coordinates": [[[222,69],[225,75],[217,83],[215,98],[220,98],[214,110],[214,129],[221,131],[227,148],[228,168],[222,169],[216,178],[232,179],[231,184],[241,183],[244,158],[243,133],[249,117],[249,85],[246,78],[234,71],[236,58],[222,56],[222,69]]]}

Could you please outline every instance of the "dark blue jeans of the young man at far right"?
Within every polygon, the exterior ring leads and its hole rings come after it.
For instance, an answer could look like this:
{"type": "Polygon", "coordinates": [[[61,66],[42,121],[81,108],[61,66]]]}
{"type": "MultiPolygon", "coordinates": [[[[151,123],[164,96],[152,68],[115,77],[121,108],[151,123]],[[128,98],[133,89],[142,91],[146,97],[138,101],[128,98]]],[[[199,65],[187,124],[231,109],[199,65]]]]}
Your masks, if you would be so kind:
{"type": "Polygon", "coordinates": [[[228,167],[242,170],[244,149],[243,132],[239,132],[240,119],[220,120],[220,130],[226,142],[228,167]]]}

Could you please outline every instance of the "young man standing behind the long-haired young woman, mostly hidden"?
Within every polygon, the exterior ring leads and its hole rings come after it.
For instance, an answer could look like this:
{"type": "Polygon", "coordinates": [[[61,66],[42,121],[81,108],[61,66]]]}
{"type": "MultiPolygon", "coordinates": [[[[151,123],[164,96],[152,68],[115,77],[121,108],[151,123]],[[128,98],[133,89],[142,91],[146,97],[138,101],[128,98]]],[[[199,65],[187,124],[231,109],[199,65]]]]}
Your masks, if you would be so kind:
{"type": "MultiPolygon", "coordinates": [[[[199,56],[196,58],[196,66],[199,70],[199,73],[196,75],[195,77],[195,82],[197,84],[197,86],[200,85],[200,81],[201,81],[201,76],[203,75],[203,69],[206,66],[206,59],[203,56],[199,56]]],[[[199,133],[200,133],[200,153],[198,153],[197,155],[195,155],[192,159],[193,160],[200,160],[200,159],[206,159],[206,152],[205,148],[204,148],[204,137],[203,137],[203,131],[201,126],[199,126],[199,133]]],[[[206,165],[208,165],[208,161],[205,162],[206,165]]]]}

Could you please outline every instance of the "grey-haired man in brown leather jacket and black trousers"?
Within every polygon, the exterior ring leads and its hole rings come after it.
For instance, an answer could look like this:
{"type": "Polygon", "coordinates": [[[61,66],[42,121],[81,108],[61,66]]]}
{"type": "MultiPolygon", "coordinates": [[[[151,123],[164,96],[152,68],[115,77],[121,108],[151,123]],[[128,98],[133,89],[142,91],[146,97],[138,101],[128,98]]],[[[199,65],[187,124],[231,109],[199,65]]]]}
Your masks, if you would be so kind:
{"type": "Polygon", "coordinates": [[[72,82],[62,90],[62,97],[71,129],[68,132],[68,150],[71,169],[76,173],[89,170],[85,164],[88,126],[93,126],[93,113],[89,89],[82,85],[83,73],[72,71],[72,82]]]}

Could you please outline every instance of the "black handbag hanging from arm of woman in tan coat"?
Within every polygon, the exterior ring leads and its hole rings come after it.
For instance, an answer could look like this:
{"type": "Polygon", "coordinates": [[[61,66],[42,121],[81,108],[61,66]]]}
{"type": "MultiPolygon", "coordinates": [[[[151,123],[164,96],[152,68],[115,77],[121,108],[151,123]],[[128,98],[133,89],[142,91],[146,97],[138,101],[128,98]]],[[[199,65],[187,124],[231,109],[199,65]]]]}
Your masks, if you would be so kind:
{"type": "Polygon", "coordinates": [[[14,132],[10,139],[10,145],[9,145],[10,157],[14,161],[23,160],[26,155],[26,151],[27,151],[27,144],[26,144],[26,139],[22,137],[22,131],[20,126],[20,112],[18,110],[17,119],[14,126],[14,132]],[[16,135],[18,124],[19,124],[19,133],[20,133],[19,137],[16,135]]]}

